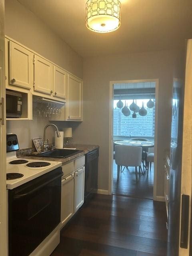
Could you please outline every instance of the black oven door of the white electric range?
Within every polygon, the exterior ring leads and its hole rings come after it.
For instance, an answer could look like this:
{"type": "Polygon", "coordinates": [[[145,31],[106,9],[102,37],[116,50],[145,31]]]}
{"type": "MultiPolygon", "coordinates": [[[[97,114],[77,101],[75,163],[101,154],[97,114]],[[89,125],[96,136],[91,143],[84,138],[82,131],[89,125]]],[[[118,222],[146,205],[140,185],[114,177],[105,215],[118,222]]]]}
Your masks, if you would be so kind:
{"type": "Polygon", "coordinates": [[[9,190],[9,256],[29,255],[60,223],[62,168],[9,190]]]}

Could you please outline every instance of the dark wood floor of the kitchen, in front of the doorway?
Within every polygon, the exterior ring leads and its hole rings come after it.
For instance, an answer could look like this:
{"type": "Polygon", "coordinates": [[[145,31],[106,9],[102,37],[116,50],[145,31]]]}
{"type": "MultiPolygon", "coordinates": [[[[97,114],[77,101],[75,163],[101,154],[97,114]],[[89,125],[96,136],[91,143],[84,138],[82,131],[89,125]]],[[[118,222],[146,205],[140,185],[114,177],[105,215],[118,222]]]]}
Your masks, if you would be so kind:
{"type": "Polygon", "coordinates": [[[164,202],[96,194],[61,231],[51,256],[166,256],[164,202]]]}

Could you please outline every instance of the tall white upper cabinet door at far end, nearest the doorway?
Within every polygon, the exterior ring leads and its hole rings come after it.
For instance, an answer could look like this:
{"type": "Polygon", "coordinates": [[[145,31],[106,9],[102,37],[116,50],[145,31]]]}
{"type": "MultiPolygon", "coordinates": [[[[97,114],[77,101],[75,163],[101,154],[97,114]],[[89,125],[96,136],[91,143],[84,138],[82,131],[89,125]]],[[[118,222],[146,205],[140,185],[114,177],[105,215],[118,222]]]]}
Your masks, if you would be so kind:
{"type": "Polygon", "coordinates": [[[82,81],[68,74],[67,120],[82,121],[82,81]]]}

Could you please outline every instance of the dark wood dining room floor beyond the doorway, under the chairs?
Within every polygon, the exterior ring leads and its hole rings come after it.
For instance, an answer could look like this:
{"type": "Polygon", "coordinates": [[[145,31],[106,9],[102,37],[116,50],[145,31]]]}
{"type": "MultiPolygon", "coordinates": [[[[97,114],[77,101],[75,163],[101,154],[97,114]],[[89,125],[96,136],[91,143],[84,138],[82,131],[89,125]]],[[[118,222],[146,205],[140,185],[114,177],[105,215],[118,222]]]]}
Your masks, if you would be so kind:
{"type": "Polygon", "coordinates": [[[140,198],[153,198],[153,177],[154,165],[152,163],[151,172],[149,175],[141,176],[136,183],[135,168],[125,168],[124,172],[120,173],[119,181],[117,181],[117,165],[113,163],[113,193],[125,196],[134,196],[140,198]]]}

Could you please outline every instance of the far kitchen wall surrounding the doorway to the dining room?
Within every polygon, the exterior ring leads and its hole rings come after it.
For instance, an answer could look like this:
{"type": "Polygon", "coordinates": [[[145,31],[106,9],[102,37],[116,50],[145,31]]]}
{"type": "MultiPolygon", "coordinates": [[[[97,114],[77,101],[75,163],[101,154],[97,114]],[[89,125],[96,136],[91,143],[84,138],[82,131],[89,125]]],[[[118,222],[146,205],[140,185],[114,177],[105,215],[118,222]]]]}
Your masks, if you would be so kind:
{"type": "Polygon", "coordinates": [[[103,56],[84,60],[83,122],[74,127],[74,141],[99,144],[99,189],[108,190],[109,82],[159,79],[157,195],[164,196],[164,151],[170,145],[172,81],[176,52],[160,51],[103,56]]]}

